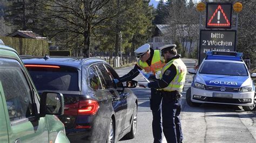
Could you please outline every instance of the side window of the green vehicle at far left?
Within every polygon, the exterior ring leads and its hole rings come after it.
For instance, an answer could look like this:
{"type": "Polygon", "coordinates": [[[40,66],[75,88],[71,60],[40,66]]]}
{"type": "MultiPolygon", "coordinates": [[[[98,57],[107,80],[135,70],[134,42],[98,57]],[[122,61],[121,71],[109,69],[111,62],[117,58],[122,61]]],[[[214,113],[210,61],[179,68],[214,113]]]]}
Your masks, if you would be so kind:
{"type": "Polygon", "coordinates": [[[0,81],[10,121],[34,116],[32,92],[21,65],[16,60],[0,59],[0,62],[0,81]]]}

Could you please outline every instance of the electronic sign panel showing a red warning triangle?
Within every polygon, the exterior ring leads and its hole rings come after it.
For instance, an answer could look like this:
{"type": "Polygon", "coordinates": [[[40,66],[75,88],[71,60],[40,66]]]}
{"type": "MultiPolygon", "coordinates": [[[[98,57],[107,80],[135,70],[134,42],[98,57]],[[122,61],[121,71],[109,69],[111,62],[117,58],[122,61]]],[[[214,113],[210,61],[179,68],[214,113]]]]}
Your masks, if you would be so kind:
{"type": "Polygon", "coordinates": [[[231,28],[232,3],[207,3],[207,28],[231,28]]]}

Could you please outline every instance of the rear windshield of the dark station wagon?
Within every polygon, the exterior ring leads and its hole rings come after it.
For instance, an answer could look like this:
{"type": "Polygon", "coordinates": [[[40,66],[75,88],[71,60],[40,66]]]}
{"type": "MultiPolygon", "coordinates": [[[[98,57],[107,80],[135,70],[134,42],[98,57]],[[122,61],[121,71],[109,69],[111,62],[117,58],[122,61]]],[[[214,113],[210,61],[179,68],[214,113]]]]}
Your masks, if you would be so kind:
{"type": "Polygon", "coordinates": [[[73,68],[26,67],[37,90],[79,91],[78,71],[73,68]]]}

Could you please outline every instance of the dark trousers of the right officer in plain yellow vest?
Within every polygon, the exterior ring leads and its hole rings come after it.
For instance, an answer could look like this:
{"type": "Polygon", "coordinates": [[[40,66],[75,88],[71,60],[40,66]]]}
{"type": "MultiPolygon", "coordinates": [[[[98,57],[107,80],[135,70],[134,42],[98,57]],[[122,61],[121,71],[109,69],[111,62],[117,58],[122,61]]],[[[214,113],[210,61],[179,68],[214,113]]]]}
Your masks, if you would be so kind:
{"type": "Polygon", "coordinates": [[[181,142],[183,133],[181,130],[180,111],[181,99],[175,98],[176,92],[161,92],[162,100],[162,117],[163,131],[167,142],[181,142]]]}

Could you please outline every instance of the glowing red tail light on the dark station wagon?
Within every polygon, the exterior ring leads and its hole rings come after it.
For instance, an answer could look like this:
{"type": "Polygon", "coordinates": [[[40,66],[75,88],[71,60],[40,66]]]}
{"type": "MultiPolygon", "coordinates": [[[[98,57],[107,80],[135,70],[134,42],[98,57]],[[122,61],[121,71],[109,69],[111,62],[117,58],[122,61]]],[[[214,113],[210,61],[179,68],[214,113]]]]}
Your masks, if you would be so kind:
{"type": "Polygon", "coordinates": [[[78,115],[93,115],[99,109],[99,104],[94,100],[79,101],[78,115]]]}

